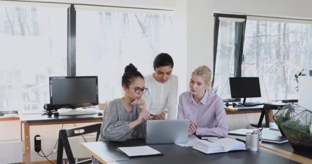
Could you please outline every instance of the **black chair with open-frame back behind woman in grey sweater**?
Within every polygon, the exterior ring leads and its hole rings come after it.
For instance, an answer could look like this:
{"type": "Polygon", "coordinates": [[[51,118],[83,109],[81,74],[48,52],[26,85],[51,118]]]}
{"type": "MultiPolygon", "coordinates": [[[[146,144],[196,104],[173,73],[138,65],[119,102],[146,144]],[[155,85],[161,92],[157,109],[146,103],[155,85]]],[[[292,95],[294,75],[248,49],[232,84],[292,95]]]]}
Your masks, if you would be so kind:
{"type": "MultiPolygon", "coordinates": [[[[99,139],[101,131],[101,123],[89,125],[85,127],[77,127],[72,129],[62,129],[59,132],[59,144],[57,145],[57,164],[62,164],[63,160],[63,148],[65,149],[67,159],[70,164],[75,163],[74,156],[72,154],[68,137],[74,137],[79,135],[85,135],[96,132],[96,141],[99,139]],[[82,131],[81,133],[79,131],[82,131]]],[[[87,164],[92,163],[92,159],[87,159],[84,161],[77,162],[76,164],[87,164]]]]}

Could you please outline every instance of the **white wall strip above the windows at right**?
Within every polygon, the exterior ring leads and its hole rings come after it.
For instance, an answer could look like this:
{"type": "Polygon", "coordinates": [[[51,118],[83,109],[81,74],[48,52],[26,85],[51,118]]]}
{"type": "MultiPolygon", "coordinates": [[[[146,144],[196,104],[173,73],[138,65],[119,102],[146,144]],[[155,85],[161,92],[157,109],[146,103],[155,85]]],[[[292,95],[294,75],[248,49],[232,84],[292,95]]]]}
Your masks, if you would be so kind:
{"type": "Polygon", "coordinates": [[[312,18],[310,0],[214,0],[214,12],[233,12],[292,18],[312,18]]]}

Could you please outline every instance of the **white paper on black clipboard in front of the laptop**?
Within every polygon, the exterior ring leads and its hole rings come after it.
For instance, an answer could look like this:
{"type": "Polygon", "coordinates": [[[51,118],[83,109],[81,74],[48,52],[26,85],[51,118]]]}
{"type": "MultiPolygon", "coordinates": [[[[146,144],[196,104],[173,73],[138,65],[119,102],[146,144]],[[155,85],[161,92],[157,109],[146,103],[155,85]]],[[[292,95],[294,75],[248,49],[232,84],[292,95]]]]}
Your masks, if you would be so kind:
{"type": "Polygon", "coordinates": [[[128,158],[138,158],[146,156],[161,156],[161,152],[149,147],[149,146],[140,146],[140,147],[120,147],[117,148],[118,151],[125,154],[128,158]]]}

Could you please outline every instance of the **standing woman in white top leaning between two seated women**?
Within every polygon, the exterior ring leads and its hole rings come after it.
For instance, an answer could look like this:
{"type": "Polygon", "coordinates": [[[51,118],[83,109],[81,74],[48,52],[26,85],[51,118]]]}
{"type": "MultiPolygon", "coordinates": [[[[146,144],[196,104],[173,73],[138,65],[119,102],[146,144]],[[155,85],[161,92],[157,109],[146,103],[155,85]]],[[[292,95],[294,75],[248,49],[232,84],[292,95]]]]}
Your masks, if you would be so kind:
{"type": "Polygon", "coordinates": [[[164,111],[168,111],[168,119],[177,117],[178,77],[172,75],[173,60],[167,53],[158,54],[153,63],[154,73],[145,76],[148,88],[143,99],[147,109],[156,114],[153,119],[165,119],[164,111]]]}

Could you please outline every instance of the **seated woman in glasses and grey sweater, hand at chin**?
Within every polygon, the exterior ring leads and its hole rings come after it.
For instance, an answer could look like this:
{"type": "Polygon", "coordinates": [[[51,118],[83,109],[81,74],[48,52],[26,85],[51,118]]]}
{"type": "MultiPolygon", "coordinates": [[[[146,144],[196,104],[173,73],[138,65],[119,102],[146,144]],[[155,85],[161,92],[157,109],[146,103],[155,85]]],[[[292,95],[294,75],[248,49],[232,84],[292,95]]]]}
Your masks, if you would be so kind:
{"type": "Polygon", "coordinates": [[[125,68],[122,87],[125,95],[110,101],[104,111],[99,141],[145,138],[150,114],[141,97],[147,88],[144,77],[132,64],[125,68]]]}

